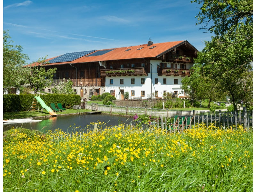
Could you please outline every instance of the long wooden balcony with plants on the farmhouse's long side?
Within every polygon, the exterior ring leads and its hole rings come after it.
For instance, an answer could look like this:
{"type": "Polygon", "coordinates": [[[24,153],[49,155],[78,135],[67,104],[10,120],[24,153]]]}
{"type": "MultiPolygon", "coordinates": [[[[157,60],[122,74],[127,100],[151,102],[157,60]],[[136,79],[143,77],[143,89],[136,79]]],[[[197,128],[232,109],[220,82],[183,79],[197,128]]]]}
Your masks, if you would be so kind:
{"type": "Polygon", "coordinates": [[[101,69],[100,76],[142,76],[148,75],[144,67],[140,68],[119,68],[119,69],[101,69]]]}

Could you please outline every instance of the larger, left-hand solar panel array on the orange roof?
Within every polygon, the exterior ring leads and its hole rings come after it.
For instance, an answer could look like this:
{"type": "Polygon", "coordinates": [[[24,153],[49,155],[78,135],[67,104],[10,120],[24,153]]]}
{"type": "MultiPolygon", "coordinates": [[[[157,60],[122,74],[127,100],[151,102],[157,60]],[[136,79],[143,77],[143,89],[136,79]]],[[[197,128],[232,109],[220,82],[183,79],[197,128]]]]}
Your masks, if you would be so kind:
{"type": "Polygon", "coordinates": [[[88,55],[88,54],[90,54],[90,53],[92,53],[94,51],[96,51],[96,50],[66,53],[66,54],[60,55],[59,57],[56,57],[56,58],[54,58],[52,60],[49,60],[48,62],[49,63],[59,63],[59,62],[73,61],[75,59],[83,57],[84,55],[88,55]]]}

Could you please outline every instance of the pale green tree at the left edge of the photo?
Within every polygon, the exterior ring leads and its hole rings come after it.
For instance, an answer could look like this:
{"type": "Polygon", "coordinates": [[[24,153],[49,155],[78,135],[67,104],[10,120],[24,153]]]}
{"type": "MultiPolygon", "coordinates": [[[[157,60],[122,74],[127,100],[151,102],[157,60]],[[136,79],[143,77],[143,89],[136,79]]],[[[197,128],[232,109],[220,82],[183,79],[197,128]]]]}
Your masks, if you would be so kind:
{"type": "Polygon", "coordinates": [[[23,66],[26,60],[29,60],[28,55],[22,53],[20,45],[13,45],[10,40],[9,31],[4,30],[4,47],[3,47],[3,88],[10,89],[21,88],[25,83],[23,66]]]}

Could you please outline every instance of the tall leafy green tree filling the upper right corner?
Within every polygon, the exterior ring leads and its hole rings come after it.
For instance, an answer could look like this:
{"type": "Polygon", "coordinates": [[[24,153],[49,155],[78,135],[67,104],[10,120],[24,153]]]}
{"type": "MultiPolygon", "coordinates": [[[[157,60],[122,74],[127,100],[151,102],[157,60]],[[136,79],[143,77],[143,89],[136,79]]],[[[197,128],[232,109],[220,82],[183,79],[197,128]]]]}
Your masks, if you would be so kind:
{"type": "Polygon", "coordinates": [[[230,96],[237,111],[237,100],[252,100],[252,0],[194,2],[202,4],[197,24],[215,34],[210,42],[205,42],[195,62],[217,90],[230,96]]]}

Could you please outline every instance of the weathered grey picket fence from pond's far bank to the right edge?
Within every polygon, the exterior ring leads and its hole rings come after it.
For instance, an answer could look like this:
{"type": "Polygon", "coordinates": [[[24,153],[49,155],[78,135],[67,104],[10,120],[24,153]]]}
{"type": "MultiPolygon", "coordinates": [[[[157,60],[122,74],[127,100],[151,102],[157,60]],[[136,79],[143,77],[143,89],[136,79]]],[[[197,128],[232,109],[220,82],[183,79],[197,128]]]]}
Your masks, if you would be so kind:
{"type": "MultiPolygon", "coordinates": [[[[208,128],[210,124],[215,125],[219,128],[237,128],[238,125],[243,125],[245,129],[252,127],[253,125],[253,111],[247,111],[244,107],[243,110],[236,112],[228,111],[215,111],[211,113],[210,111],[195,111],[195,110],[171,110],[171,109],[158,109],[158,108],[142,108],[142,107],[122,107],[122,106],[107,106],[99,104],[86,104],[86,109],[91,109],[95,111],[102,111],[111,114],[122,114],[125,116],[137,115],[148,115],[152,117],[165,117],[174,118],[178,116],[179,120],[181,118],[189,117],[191,122],[186,122],[182,127],[187,129],[191,126],[196,126],[196,124],[205,124],[208,128]],[[193,118],[192,118],[193,117],[193,118]]],[[[164,124],[164,122],[162,123],[164,124]]],[[[170,125],[168,126],[170,127],[170,125]]]]}

